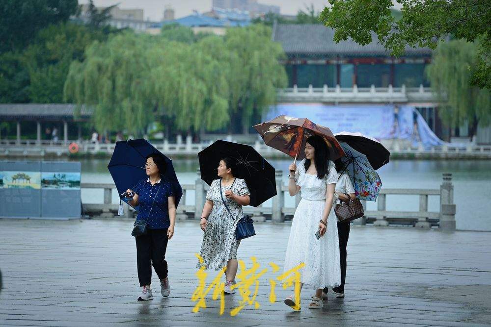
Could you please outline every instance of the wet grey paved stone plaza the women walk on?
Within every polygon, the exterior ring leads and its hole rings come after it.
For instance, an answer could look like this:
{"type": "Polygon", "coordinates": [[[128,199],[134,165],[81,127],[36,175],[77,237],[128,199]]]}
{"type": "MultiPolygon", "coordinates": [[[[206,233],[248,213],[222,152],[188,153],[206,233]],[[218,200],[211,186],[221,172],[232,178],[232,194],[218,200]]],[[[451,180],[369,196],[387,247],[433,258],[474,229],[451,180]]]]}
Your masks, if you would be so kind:
{"type": "MultiPolygon", "coordinates": [[[[491,233],[443,233],[414,228],[352,227],[348,244],[346,298],[332,293],[323,309],[285,304],[292,290],[260,278],[258,309],[230,311],[242,299],[227,296],[225,313],[207,295],[193,313],[197,285],[197,222],[178,222],[166,259],[172,292],[162,298],[153,275],[154,300],[137,302],[136,250],[129,220],[0,220],[0,326],[484,326],[491,324],[491,233]]],[[[239,257],[250,268],[283,265],[289,224],[256,224],[239,257]]],[[[207,271],[208,282],[216,276],[207,271]]],[[[240,273],[240,271],[239,271],[240,273]]],[[[253,288],[251,288],[253,290],[253,288]]]]}

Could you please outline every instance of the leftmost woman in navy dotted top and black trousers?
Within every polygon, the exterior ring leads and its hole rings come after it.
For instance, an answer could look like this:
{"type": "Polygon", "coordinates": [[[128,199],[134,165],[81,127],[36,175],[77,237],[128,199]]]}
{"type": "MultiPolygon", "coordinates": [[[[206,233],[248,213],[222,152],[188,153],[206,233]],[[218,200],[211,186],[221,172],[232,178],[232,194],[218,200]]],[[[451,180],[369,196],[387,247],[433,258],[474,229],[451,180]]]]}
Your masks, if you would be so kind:
{"type": "Polygon", "coordinates": [[[172,185],[161,178],[165,166],[162,155],[149,154],[145,163],[148,178],[140,181],[134,190],[126,191],[128,203],[140,206],[136,220],[147,220],[147,233],[135,238],[138,280],[143,287],[138,301],[153,299],[151,265],[159,276],[162,296],[170,294],[165,250],[168,240],[174,235],[176,204],[172,185]]]}

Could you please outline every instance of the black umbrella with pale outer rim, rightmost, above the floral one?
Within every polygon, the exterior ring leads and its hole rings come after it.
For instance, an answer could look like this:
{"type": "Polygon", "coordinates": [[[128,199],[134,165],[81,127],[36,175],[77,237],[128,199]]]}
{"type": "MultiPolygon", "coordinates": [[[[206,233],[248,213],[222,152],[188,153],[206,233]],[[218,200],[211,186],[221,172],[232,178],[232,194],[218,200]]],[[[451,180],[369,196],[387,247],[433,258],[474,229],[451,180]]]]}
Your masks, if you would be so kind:
{"type": "Polygon", "coordinates": [[[389,162],[390,152],[373,137],[352,132],[335,133],[334,136],[339,142],[345,142],[356,151],[365,154],[375,170],[389,162]]]}

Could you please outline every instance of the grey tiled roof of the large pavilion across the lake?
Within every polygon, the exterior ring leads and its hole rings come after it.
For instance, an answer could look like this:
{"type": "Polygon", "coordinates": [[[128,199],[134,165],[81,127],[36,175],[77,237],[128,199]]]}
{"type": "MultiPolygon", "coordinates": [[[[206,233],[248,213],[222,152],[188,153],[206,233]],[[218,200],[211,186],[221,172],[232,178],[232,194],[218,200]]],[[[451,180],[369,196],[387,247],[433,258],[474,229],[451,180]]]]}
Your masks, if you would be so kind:
{"type": "MultiPolygon", "coordinates": [[[[346,55],[346,56],[385,56],[390,51],[379,43],[377,35],[372,33],[373,41],[360,46],[349,39],[335,43],[334,30],[320,24],[278,24],[273,31],[273,40],[281,43],[289,56],[298,55],[346,55]]],[[[406,48],[407,55],[431,55],[429,48],[406,48]]]]}

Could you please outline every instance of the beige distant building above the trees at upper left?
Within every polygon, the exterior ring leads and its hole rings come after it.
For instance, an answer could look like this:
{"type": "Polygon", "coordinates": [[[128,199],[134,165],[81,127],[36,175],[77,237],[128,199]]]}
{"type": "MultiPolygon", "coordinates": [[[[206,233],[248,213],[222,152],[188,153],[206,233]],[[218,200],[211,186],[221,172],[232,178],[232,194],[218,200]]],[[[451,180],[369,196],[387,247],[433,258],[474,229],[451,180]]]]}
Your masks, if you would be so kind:
{"type": "MultiPolygon", "coordinates": [[[[86,22],[89,20],[88,16],[88,4],[82,4],[81,14],[78,19],[86,22]]],[[[102,11],[105,7],[97,7],[97,10],[102,11]]],[[[132,28],[138,32],[144,32],[154,22],[145,21],[143,19],[143,9],[121,9],[118,6],[110,10],[111,18],[108,21],[108,25],[116,28],[132,28]]]]}

